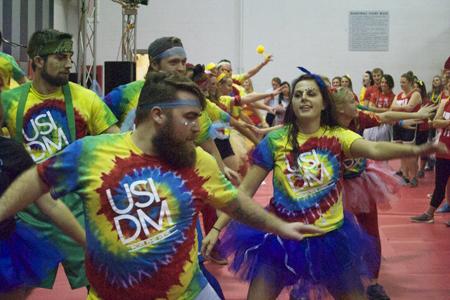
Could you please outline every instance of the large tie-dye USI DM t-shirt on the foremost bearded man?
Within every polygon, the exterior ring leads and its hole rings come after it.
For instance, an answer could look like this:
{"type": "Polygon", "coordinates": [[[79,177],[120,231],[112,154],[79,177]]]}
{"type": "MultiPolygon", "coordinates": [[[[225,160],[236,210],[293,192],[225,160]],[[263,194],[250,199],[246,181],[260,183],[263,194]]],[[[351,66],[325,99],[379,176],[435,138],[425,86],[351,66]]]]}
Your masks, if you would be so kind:
{"type": "Polygon", "coordinates": [[[206,285],[196,222],[237,190],[197,148],[195,168],[144,154],[131,133],[81,139],[38,165],[54,198],[76,193],[86,214],[86,274],[103,299],[195,299],[206,285]]]}

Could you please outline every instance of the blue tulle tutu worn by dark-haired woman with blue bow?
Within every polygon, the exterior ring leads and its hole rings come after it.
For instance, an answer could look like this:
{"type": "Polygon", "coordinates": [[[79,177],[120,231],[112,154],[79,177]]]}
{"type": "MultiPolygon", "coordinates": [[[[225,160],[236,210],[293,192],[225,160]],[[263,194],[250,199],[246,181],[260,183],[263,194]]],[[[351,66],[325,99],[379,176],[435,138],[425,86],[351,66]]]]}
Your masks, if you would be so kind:
{"type": "Polygon", "coordinates": [[[316,296],[327,290],[331,294],[361,290],[362,278],[373,278],[368,265],[380,259],[373,238],[350,213],[345,213],[339,229],[302,241],[283,239],[237,222],[228,226],[221,241],[224,253],[234,255],[230,269],[241,279],[251,281],[270,268],[282,287],[296,285],[298,291],[303,288],[303,293],[316,296]]]}

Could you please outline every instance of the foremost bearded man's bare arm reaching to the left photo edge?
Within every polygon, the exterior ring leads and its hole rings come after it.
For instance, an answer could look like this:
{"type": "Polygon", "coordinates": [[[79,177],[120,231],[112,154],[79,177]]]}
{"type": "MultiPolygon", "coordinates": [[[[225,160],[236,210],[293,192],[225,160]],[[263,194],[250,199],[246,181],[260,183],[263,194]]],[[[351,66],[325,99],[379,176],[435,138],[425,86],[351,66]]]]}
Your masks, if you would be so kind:
{"type": "Polygon", "coordinates": [[[18,177],[0,198],[0,221],[13,216],[48,192],[39,178],[36,167],[18,177]]]}

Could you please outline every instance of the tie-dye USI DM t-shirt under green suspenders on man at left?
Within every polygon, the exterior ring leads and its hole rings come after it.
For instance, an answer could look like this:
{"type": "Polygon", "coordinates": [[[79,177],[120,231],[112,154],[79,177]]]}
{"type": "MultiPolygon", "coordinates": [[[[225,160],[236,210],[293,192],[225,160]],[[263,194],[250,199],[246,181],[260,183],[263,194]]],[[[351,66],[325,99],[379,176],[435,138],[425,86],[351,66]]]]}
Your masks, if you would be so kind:
{"type": "MultiPolygon", "coordinates": [[[[117,120],[91,90],[69,82],[75,116],[76,138],[97,135],[117,120]]],[[[4,122],[12,138],[16,136],[19,99],[25,86],[2,93],[4,122]]],[[[43,95],[31,87],[23,116],[23,142],[35,162],[62,150],[71,141],[62,89],[43,95]]]]}

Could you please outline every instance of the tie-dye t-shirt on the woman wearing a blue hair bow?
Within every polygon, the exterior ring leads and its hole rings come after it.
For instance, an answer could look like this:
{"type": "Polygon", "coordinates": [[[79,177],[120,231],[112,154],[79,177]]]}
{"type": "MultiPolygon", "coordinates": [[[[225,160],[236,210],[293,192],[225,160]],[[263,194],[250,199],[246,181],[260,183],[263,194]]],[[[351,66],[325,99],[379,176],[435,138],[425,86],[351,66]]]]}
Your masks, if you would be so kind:
{"type": "Polygon", "coordinates": [[[256,146],[252,160],[273,170],[273,198],[269,210],[280,218],[314,224],[326,232],[343,222],[342,172],[345,156],[361,136],[340,127],[299,133],[298,166],[294,164],[288,127],[269,133],[256,146]]]}

